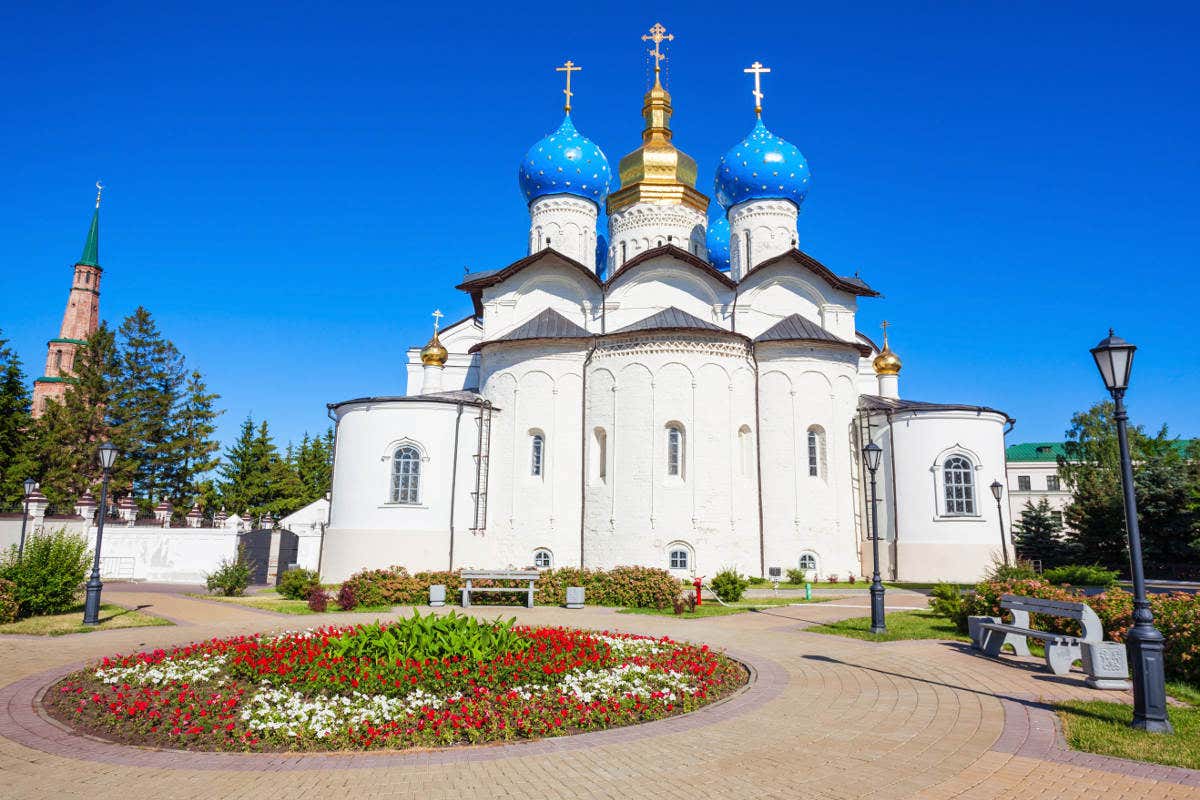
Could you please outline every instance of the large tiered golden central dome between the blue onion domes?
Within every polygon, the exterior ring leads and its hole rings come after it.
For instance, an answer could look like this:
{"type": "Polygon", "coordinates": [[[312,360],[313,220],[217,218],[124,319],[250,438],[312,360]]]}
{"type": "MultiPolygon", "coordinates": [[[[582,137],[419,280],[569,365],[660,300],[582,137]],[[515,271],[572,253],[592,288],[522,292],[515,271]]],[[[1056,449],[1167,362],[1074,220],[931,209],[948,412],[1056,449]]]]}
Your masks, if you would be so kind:
{"type": "Polygon", "coordinates": [[[654,71],[654,86],[646,92],[642,146],[620,160],[620,188],[608,196],[608,213],[635,203],[690,205],[708,212],[708,198],[696,190],[696,160],[671,144],[671,95],[654,71]]]}

